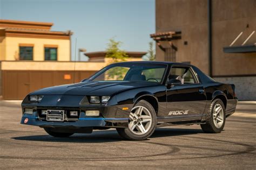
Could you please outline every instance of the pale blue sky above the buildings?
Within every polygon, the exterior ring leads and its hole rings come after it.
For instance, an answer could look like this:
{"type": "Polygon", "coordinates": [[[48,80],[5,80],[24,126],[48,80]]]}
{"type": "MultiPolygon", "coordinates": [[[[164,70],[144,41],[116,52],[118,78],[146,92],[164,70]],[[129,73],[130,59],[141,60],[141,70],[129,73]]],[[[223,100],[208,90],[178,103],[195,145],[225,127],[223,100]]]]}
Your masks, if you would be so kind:
{"type": "Polygon", "coordinates": [[[147,51],[155,32],[154,0],[0,0],[0,18],[54,23],[52,31],[74,32],[77,48],[104,51],[108,39],[126,51],[147,51]]]}

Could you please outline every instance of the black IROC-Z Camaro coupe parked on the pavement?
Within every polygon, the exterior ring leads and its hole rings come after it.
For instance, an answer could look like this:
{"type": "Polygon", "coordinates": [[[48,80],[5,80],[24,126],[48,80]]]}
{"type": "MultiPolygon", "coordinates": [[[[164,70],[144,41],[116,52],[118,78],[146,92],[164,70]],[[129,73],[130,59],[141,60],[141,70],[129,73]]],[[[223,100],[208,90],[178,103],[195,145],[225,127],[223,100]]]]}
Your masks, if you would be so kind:
{"type": "Polygon", "coordinates": [[[120,62],[80,83],[29,94],[21,124],[54,137],[116,128],[125,139],[144,140],[169,125],[200,124],[204,132],[219,133],[236,105],[233,84],[216,82],[195,66],[120,62]]]}

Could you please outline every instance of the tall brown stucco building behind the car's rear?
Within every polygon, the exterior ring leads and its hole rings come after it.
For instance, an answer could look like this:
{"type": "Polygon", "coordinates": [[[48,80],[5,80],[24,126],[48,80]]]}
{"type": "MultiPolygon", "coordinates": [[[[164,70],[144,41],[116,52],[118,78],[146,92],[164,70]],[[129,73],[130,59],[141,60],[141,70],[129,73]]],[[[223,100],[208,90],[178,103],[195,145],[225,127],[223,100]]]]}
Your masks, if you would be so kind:
{"type": "Polygon", "coordinates": [[[156,0],[156,59],[191,63],[256,100],[255,11],[254,0],[156,0]]]}

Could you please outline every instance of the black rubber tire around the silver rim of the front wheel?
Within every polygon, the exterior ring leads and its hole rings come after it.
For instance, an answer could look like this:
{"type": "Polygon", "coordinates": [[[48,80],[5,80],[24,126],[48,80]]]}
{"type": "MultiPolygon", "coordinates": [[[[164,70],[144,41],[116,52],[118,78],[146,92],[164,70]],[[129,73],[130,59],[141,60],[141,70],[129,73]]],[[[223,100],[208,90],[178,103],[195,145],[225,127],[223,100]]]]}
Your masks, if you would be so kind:
{"type": "Polygon", "coordinates": [[[154,108],[152,107],[152,105],[145,100],[140,100],[137,104],[134,105],[134,107],[137,107],[137,106],[143,106],[151,112],[151,116],[152,116],[151,127],[145,134],[140,134],[140,135],[134,134],[129,128],[117,128],[118,134],[124,139],[145,140],[145,139],[149,138],[153,134],[154,130],[156,129],[157,114],[156,114],[156,111],[154,110],[154,108]]]}

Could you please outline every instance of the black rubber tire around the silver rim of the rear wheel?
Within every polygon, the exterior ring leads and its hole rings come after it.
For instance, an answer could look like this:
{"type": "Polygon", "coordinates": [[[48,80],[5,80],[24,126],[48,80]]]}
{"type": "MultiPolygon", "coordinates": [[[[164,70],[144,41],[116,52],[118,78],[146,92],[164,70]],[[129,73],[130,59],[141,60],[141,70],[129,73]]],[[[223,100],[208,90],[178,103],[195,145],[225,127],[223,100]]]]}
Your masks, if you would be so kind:
{"type": "Polygon", "coordinates": [[[219,98],[217,98],[211,103],[210,109],[206,116],[206,124],[201,124],[201,129],[206,133],[220,133],[225,126],[225,121],[226,121],[225,106],[223,104],[223,101],[221,101],[219,98]],[[223,124],[219,128],[217,126],[215,126],[215,124],[213,122],[214,121],[214,119],[213,119],[214,107],[217,104],[221,105],[221,107],[223,108],[223,114],[224,114],[223,124]]]}

